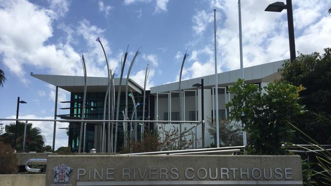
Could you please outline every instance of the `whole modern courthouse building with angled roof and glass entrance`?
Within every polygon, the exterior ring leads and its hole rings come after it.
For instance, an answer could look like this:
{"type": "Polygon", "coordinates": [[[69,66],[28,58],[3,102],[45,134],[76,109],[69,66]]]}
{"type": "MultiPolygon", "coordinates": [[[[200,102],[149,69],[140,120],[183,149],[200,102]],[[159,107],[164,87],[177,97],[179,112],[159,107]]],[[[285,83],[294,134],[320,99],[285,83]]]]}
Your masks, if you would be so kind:
{"type": "MultiPolygon", "coordinates": [[[[244,68],[245,83],[254,83],[263,87],[267,83],[280,78],[278,69],[282,67],[285,60],[275,61],[263,65],[244,68]]],[[[60,76],[60,75],[41,75],[32,74],[31,76],[40,79],[46,83],[52,84],[57,88],[62,88],[70,92],[70,100],[59,100],[61,103],[66,103],[68,106],[59,108],[66,110],[66,114],[54,113],[57,117],[62,119],[80,119],[82,109],[82,95],[84,94],[84,77],[81,76],[60,76]]],[[[227,92],[229,86],[233,85],[237,79],[240,78],[240,70],[233,70],[218,74],[218,114],[219,118],[227,118],[229,111],[225,108],[225,104],[233,98],[233,95],[227,92]]],[[[214,138],[208,132],[210,122],[215,115],[215,76],[208,75],[199,78],[183,80],[181,82],[182,89],[182,120],[186,121],[201,121],[201,87],[193,87],[196,83],[201,83],[204,79],[204,120],[205,120],[205,146],[214,143],[214,138]]],[[[115,90],[121,86],[121,101],[119,119],[122,120],[122,110],[125,109],[125,85],[126,79],[119,84],[119,78],[114,78],[115,90]]],[[[87,77],[87,96],[85,119],[103,119],[104,97],[107,88],[106,77],[87,77]]],[[[136,106],[137,120],[142,120],[143,113],[143,87],[134,82],[134,79],[128,80],[129,92],[132,90],[135,103],[128,98],[128,116],[131,118],[133,106],[136,106]],[[140,104],[136,104],[140,103],[140,104]]],[[[146,91],[146,105],[145,105],[145,120],[179,120],[179,82],[163,84],[151,87],[146,91]]],[[[56,95],[57,97],[58,95],[56,95]]],[[[117,100],[117,92],[115,96],[117,100]]],[[[115,107],[116,108],[116,107],[115,107]]],[[[56,109],[57,110],[57,109],[56,109]]],[[[106,109],[107,110],[107,109],[106,109]]],[[[106,111],[107,114],[107,111],[106,111]]],[[[107,117],[106,117],[107,118],[107,117]]],[[[100,124],[100,123],[98,123],[100,124]]],[[[148,123],[152,131],[171,130],[179,127],[178,123],[148,123]]],[[[183,123],[182,132],[191,129],[194,126],[192,123],[183,123]]],[[[72,151],[77,151],[79,144],[80,122],[70,122],[68,128],[68,146],[72,151]]],[[[138,130],[140,131],[140,130],[138,130]]],[[[138,132],[139,133],[139,132],[138,132]]],[[[202,130],[197,128],[197,135],[195,131],[188,131],[192,133],[194,138],[197,138],[197,146],[202,146],[202,130]],[[194,134],[193,134],[194,133],[194,134]],[[195,136],[196,135],[196,136],[195,136]]],[[[187,134],[188,134],[187,133],[187,134]]],[[[88,122],[86,130],[86,151],[95,148],[100,151],[101,144],[101,125],[96,125],[94,122],[88,122]]],[[[140,134],[137,134],[140,135],[140,134]]],[[[160,135],[162,137],[162,135],[160,135]]],[[[187,138],[191,138],[188,135],[187,138]]],[[[123,125],[119,123],[117,151],[123,144],[123,125]]]]}

